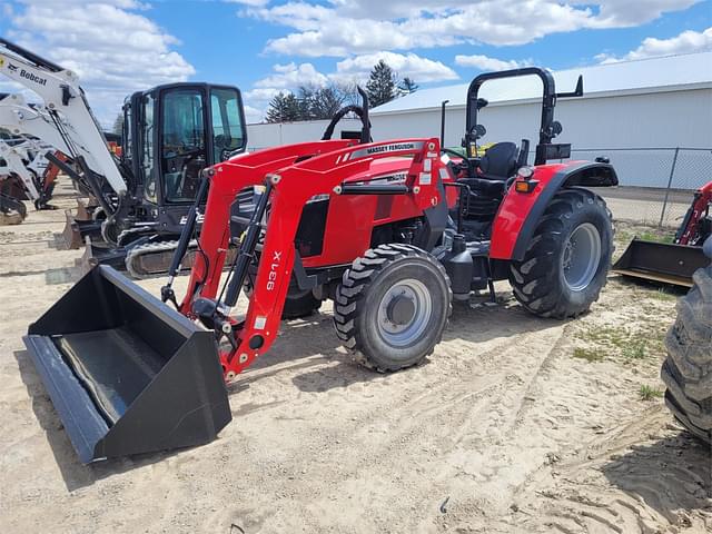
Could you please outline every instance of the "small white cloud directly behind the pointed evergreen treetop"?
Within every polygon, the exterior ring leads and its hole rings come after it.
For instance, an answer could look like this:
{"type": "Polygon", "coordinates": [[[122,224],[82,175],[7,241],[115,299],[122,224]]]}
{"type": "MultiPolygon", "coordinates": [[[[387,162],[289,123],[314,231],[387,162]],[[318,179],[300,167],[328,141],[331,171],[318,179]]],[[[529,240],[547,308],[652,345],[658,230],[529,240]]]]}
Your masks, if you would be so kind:
{"type": "Polygon", "coordinates": [[[456,80],[453,69],[439,61],[422,58],[415,53],[377,52],[356,56],[336,63],[336,72],[329,75],[334,80],[364,81],[378,61],[388,63],[399,78],[412,78],[416,82],[456,80]]]}

